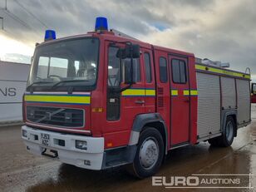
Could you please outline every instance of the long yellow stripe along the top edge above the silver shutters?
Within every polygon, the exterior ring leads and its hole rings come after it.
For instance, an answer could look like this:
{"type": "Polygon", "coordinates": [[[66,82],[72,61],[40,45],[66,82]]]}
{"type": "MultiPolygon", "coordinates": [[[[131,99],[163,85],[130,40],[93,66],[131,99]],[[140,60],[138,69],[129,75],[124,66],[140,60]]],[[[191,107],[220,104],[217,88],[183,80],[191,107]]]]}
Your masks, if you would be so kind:
{"type": "Polygon", "coordinates": [[[246,79],[251,78],[251,76],[249,74],[244,74],[244,73],[235,72],[235,71],[228,71],[228,70],[224,70],[224,69],[217,69],[217,68],[214,68],[214,67],[202,66],[202,65],[199,65],[199,64],[195,65],[195,69],[202,70],[202,71],[216,72],[216,73],[224,74],[224,75],[228,75],[228,76],[238,76],[238,77],[242,77],[242,78],[246,78],[246,79]]]}

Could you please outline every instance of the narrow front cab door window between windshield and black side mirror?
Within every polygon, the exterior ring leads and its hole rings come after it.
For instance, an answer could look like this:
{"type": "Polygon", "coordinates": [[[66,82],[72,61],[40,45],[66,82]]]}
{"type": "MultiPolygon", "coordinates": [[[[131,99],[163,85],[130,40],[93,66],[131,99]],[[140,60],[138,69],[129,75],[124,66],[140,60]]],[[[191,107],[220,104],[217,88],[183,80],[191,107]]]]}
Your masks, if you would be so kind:
{"type": "Polygon", "coordinates": [[[121,65],[120,58],[116,57],[118,47],[110,47],[108,52],[108,86],[120,86],[121,83],[121,65]]]}

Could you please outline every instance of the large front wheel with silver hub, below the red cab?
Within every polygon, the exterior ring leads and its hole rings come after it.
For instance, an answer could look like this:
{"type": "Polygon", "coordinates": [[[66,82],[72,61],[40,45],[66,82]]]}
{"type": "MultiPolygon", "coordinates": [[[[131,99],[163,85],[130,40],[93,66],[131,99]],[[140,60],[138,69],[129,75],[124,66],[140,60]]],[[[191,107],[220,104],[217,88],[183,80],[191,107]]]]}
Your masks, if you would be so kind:
{"type": "Polygon", "coordinates": [[[135,159],[128,172],[143,179],[155,175],[160,169],[165,154],[162,135],[153,127],[145,127],[140,133],[135,159]]]}

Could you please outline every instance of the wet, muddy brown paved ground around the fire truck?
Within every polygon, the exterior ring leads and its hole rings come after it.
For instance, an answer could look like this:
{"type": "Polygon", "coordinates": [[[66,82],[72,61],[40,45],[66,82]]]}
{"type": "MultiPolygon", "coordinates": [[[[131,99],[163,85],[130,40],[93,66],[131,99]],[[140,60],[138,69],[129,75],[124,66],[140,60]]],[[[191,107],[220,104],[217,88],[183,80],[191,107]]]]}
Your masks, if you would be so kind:
{"type": "MultiPolygon", "coordinates": [[[[152,186],[123,168],[90,171],[30,155],[22,144],[20,126],[0,127],[0,191],[256,191],[256,106],[250,126],[239,129],[228,148],[207,142],[172,150],[157,175],[253,174],[254,189],[182,189],[152,186]]],[[[244,179],[245,180],[245,179],[244,179]]],[[[246,179],[247,180],[247,179],[246,179]]]]}

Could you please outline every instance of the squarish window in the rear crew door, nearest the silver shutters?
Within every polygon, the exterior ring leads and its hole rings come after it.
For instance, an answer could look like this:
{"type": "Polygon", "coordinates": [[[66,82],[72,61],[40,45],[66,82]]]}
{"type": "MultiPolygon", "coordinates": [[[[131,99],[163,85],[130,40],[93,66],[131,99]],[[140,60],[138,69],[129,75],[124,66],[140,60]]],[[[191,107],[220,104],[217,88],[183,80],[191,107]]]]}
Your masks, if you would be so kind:
{"type": "Polygon", "coordinates": [[[186,83],[186,64],[183,60],[173,59],[171,61],[172,81],[174,83],[186,83]]]}

